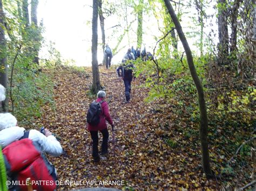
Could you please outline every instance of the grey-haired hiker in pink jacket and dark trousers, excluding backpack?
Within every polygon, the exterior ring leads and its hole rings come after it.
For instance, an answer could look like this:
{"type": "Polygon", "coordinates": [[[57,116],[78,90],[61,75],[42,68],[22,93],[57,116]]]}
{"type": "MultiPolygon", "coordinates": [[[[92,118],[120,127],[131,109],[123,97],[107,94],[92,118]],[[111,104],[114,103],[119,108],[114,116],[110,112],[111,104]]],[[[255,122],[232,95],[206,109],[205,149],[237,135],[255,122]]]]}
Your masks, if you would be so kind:
{"type": "Polygon", "coordinates": [[[109,140],[109,131],[107,131],[107,124],[106,121],[109,122],[109,124],[112,126],[113,130],[113,121],[109,114],[109,107],[107,106],[107,102],[105,101],[106,93],[105,91],[99,91],[97,94],[97,100],[96,102],[99,102],[101,105],[101,112],[99,114],[99,123],[97,125],[92,125],[90,123],[87,123],[87,129],[91,133],[92,138],[92,158],[94,162],[99,162],[99,151],[98,151],[98,131],[100,131],[103,135],[103,141],[102,141],[102,150],[100,155],[106,156],[108,154],[107,152],[107,142],[109,140]]]}

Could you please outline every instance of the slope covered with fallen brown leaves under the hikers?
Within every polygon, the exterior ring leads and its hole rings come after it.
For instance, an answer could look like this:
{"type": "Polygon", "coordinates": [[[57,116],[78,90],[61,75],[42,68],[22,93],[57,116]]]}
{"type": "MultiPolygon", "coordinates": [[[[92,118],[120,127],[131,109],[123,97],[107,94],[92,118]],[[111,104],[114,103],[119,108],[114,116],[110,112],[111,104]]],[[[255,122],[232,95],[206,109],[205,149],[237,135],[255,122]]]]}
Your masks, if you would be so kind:
{"type": "MultiPolygon", "coordinates": [[[[202,172],[198,123],[185,117],[179,119],[173,112],[176,106],[163,100],[145,103],[147,89],[140,87],[143,83],[140,78],[132,82],[131,102],[124,104],[124,84],[119,82],[113,68],[100,67],[100,81],[106,88],[117,142],[109,143],[107,158],[94,164],[91,137],[85,128],[86,111],[93,100],[87,95],[92,75],[90,68],[85,70],[55,70],[56,108],[45,107],[44,116],[38,121],[60,137],[64,154],[59,158],[49,157],[57,167],[59,180],[124,180],[126,187],[134,189],[219,189],[221,182],[207,180],[202,172]],[[190,134],[184,135],[185,130],[190,134]]],[[[110,126],[109,132],[111,139],[110,126]]],[[[102,136],[99,137],[100,145],[102,136]]],[[[214,147],[210,153],[214,162],[222,160],[214,157],[218,155],[214,147]]]]}

